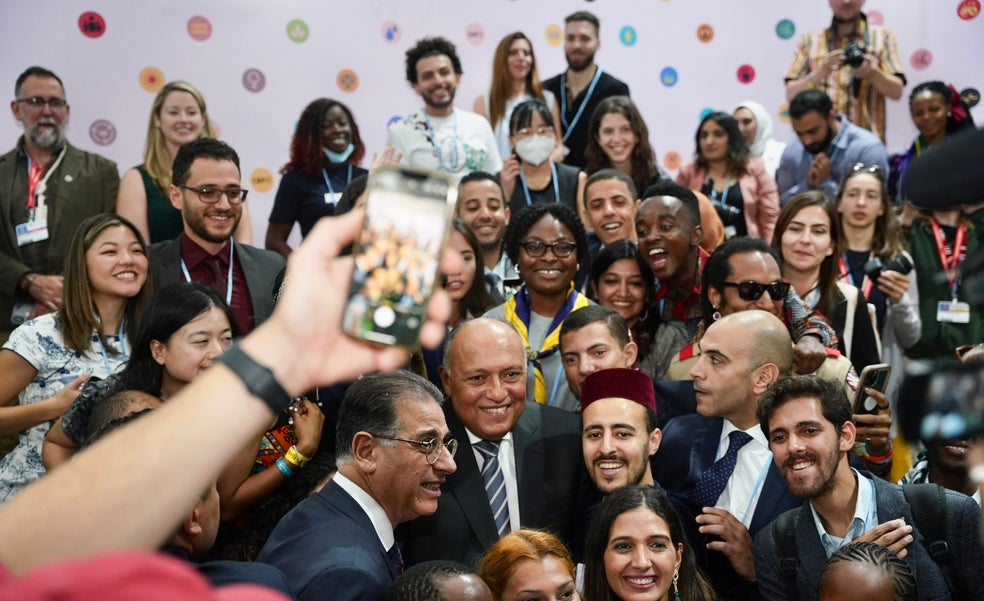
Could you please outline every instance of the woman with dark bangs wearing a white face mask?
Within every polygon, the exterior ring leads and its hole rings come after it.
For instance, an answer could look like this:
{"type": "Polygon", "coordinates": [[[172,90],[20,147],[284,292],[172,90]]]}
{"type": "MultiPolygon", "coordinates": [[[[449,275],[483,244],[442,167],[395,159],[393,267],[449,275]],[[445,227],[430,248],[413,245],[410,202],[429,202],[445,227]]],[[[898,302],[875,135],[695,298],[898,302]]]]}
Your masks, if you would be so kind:
{"type": "Polygon", "coordinates": [[[537,203],[558,202],[575,212],[582,206],[587,176],[577,167],[551,158],[557,144],[557,128],[542,100],[517,106],[509,120],[512,150],[499,173],[509,210],[513,215],[537,203]]]}

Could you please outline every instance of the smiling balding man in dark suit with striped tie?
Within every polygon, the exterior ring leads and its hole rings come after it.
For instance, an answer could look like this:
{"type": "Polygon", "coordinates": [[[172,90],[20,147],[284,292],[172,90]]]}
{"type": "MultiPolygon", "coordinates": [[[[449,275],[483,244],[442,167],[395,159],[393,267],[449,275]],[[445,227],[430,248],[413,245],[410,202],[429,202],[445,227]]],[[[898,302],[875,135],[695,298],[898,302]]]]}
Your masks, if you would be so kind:
{"type": "Polygon", "coordinates": [[[444,413],[463,449],[437,512],[401,528],[407,563],[471,565],[520,527],[549,530],[576,543],[576,553],[593,489],[581,461],[580,418],[526,401],[526,353],[508,324],[464,322],[446,345],[444,413]]]}

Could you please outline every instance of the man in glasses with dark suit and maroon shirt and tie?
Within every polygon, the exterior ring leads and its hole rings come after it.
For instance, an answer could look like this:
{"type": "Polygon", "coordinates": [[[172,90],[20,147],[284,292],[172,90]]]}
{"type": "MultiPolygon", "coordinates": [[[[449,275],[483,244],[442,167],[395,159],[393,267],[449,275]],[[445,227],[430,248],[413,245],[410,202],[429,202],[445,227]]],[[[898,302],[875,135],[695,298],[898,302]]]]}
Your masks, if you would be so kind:
{"type": "Polygon", "coordinates": [[[273,312],[275,282],[286,262],[273,251],[235,244],[247,196],[241,180],[239,155],[227,144],[202,138],[182,146],[170,198],[184,232],[150,247],[150,270],[158,289],[187,281],[215,288],[245,336],[273,312]]]}

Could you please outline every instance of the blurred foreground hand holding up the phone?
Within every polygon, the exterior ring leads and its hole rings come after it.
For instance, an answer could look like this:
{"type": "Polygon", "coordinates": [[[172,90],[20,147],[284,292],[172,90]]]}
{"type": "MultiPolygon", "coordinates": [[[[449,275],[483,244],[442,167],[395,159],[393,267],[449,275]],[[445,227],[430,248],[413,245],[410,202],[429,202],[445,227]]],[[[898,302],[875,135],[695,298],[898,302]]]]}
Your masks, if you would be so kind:
{"type": "MultiPolygon", "coordinates": [[[[273,315],[241,343],[292,396],[406,363],[405,349],[357,341],[341,329],[354,260],[338,253],[355,240],[363,218],[362,211],[352,211],[318,221],[287,262],[286,284],[273,315]]],[[[441,269],[461,269],[460,263],[460,254],[445,251],[441,269]]],[[[450,312],[447,293],[435,290],[421,328],[423,346],[441,343],[450,312]]]]}

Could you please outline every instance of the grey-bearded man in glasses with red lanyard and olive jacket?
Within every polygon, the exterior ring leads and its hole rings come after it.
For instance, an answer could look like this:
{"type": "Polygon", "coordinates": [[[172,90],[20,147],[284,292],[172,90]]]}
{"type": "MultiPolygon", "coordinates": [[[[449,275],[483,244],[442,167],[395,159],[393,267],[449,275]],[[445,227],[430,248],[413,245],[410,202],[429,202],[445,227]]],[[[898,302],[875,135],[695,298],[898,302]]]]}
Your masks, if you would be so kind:
{"type": "Polygon", "coordinates": [[[69,105],[57,75],[30,67],[14,95],[24,135],[0,156],[0,341],[61,306],[65,246],[86,217],[113,212],[120,184],[116,163],[65,140],[69,105]]]}

